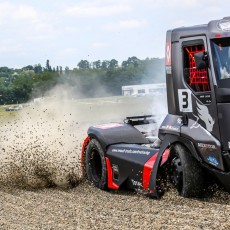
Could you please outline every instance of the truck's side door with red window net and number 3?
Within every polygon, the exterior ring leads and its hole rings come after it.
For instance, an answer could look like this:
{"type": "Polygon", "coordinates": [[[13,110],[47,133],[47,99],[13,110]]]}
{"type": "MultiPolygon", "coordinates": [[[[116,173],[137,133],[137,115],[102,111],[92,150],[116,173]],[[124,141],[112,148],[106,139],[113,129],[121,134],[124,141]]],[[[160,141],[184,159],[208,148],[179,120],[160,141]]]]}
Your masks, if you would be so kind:
{"type": "MultiPolygon", "coordinates": [[[[182,49],[182,89],[178,90],[180,112],[186,112],[212,135],[220,138],[217,118],[216,98],[213,87],[211,68],[198,70],[194,54],[207,52],[206,37],[181,39],[182,49]]],[[[210,54],[209,54],[210,55],[210,54]]]]}

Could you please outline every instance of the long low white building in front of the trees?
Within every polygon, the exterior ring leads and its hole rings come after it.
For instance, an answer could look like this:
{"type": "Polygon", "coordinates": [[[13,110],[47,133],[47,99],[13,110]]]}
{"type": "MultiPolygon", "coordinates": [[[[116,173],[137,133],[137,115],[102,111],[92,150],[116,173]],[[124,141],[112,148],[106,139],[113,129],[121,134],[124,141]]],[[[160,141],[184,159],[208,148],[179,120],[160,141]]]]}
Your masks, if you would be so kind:
{"type": "Polygon", "coordinates": [[[123,96],[162,95],[166,93],[166,83],[122,86],[123,96]]]}

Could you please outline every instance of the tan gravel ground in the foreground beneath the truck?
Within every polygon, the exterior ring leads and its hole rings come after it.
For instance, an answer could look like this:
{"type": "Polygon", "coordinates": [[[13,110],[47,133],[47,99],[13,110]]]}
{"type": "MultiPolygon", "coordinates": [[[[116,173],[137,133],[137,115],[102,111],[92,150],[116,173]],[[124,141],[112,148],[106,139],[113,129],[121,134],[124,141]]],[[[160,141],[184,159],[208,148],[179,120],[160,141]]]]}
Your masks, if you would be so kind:
{"type": "Polygon", "coordinates": [[[127,191],[1,188],[1,229],[229,229],[230,197],[161,200],[127,191]]]}

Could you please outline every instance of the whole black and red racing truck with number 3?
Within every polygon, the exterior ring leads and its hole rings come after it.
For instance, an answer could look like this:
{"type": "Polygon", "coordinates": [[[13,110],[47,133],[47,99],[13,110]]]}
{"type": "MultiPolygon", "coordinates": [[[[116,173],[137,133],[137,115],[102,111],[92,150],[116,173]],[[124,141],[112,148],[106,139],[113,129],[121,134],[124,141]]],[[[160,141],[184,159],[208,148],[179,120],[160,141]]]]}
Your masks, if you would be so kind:
{"type": "Polygon", "coordinates": [[[84,175],[103,190],[157,198],[166,172],[183,197],[201,196],[207,177],[230,192],[230,17],[168,30],[165,74],[168,113],[157,139],[136,128],[151,115],[91,126],[84,175]]]}

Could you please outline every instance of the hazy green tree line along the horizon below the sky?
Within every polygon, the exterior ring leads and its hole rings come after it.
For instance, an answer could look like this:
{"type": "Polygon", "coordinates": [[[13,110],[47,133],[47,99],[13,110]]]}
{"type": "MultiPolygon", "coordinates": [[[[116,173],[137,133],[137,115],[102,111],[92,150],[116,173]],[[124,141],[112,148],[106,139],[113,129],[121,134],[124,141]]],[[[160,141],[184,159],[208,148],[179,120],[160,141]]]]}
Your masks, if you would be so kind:
{"type": "Polygon", "coordinates": [[[56,85],[65,85],[75,98],[121,95],[124,85],[164,82],[164,59],[129,57],[118,61],[81,60],[76,68],[52,67],[47,60],[21,69],[0,67],[0,104],[25,103],[44,97],[56,85]]]}

